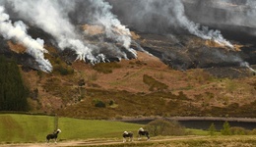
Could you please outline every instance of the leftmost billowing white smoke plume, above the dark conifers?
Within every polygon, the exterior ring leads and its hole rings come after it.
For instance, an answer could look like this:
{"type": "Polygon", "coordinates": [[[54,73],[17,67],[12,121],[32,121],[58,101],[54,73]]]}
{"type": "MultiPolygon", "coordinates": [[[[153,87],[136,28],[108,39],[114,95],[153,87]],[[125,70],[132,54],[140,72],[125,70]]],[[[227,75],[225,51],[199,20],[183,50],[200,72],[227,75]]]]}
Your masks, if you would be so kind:
{"type": "Polygon", "coordinates": [[[26,52],[32,55],[39,64],[39,68],[43,72],[51,72],[52,66],[50,62],[44,59],[44,53],[47,50],[43,48],[44,41],[40,38],[35,40],[27,33],[27,25],[19,21],[12,24],[9,15],[4,12],[4,7],[0,6],[0,33],[6,39],[15,39],[22,43],[26,48],[26,52]]]}

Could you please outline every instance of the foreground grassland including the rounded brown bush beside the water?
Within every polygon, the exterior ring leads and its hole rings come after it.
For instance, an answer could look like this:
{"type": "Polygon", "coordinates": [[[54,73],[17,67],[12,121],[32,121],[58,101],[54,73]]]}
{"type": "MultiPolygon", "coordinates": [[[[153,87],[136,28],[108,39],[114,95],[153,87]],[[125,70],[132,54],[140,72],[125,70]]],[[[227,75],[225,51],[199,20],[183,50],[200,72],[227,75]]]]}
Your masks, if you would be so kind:
{"type": "MultiPolygon", "coordinates": [[[[54,130],[55,123],[55,117],[2,114],[0,115],[0,144],[44,142],[46,134],[54,130]]],[[[230,134],[234,135],[223,135],[217,132],[215,137],[211,137],[209,136],[211,129],[209,129],[209,131],[185,129],[176,122],[164,120],[157,120],[144,126],[136,123],[58,118],[58,128],[62,130],[58,140],[62,142],[82,139],[92,141],[92,143],[94,143],[94,141],[105,142],[106,140],[111,142],[112,140],[115,142],[114,144],[104,144],[103,146],[118,147],[124,145],[121,143],[124,130],[134,132],[134,137],[136,138],[136,132],[138,128],[142,126],[150,130],[152,136],[151,140],[153,141],[146,142],[144,140],[137,141],[134,139],[134,142],[126,142],[125,146],[208,147],[228,145],[247,147],[256,145],[256,136],[250,135],[253,134],[255,130],[246,130],[246,133],[241,133],[245,132],[245,129],[241,127],[230,127],[230,132],[232,132],[230,134]],[[178,133],[175,131],[178,131],[178,133]],[[188,131],[193,135],[187,135],[188,131]]],[[[228,123],[224,123],[224,128],[226,128],[226,126],[228,126],[228,123]]],[[[210,128],[214,128],[214,125],[212,124],[210,128]]]]}

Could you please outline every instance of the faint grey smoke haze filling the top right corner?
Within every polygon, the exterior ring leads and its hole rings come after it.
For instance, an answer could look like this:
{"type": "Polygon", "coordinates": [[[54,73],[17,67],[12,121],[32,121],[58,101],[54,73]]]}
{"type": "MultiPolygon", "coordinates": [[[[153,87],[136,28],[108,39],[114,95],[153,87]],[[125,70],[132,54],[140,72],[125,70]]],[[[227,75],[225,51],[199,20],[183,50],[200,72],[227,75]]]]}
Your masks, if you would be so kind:
{"type": "MultiPolygon", "coordinates": [[[[189,0],[183,1],[191,2],[189,0]]],[[[194,8],[189,13],[197,22],[206,25],[222,25],[223,28],[233,29],[234,31],[237,26],[256,28],[255,0],[194,0],[192,4],[194,8]],[[197,17],[199,15],[200,17],[197,17]]],[[[251,29],[239,31],[256,34],[255,30],[252,31],[251,29]]]]}

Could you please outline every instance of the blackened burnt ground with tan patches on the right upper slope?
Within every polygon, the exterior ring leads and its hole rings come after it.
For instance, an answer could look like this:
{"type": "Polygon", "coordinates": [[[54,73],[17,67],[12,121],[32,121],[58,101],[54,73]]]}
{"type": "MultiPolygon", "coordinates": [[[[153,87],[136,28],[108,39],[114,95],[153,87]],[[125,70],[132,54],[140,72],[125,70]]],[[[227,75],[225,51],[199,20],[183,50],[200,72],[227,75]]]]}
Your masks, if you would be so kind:
{"type": "Polygon", "coordinates": [[[239,42],[232,41],[241,47],[239,50],[231,50],[215,44],[209,45],[208,41],[188,34],[139,35],[141,38],[137,41],[147,52],[175,70],[205,69],[219,77],[244,77],[252,73],[245,72],[247,68],[241,67],[241,64],[256,64],[253,44],[242,46],[239,42]]]}

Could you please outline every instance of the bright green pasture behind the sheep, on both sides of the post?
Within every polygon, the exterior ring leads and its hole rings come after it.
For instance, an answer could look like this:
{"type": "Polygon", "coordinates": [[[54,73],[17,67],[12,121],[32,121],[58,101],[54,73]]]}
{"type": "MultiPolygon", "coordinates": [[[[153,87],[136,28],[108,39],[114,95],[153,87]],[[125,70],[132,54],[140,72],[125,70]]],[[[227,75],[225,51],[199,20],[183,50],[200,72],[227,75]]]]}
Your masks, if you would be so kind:
{"type": "MultiPolygon", "coordinates": [[[[136,132],[142,125],[110,121],[59,118],[59,139],[121,138],[124,130],[136,132]]],[[[54,117],[0,115],[0,143],[43,142],[54,130],[54,117]]]]}

